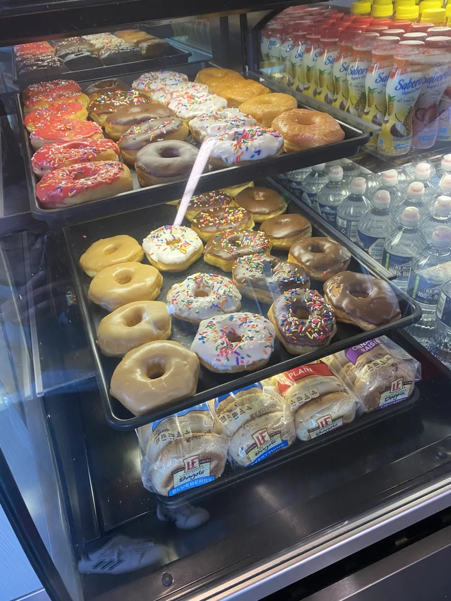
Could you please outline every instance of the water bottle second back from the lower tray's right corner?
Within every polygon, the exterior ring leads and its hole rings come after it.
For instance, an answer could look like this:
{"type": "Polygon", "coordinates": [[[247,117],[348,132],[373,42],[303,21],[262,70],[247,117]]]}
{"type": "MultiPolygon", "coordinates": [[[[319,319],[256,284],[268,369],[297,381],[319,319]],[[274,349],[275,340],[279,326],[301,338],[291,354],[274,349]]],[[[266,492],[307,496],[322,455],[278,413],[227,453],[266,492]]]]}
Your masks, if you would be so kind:
{"type": "Polygon", "coordinates": [[[371,204],[372,209],[364,213],[358,222],[357,244],[381,263],[385,238],[390,231],[390,194],[387,190],[378,190],[371,204]]]}

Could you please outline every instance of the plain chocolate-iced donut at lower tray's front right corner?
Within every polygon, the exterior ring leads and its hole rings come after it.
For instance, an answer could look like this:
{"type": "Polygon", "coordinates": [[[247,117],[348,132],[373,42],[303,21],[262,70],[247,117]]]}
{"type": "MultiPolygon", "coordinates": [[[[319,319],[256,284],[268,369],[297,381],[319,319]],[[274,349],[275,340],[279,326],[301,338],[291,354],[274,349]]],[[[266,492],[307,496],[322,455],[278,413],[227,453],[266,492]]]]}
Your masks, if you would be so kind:
{"type": "Polygon", "coordinates": [[[352,323],[363,330],[395,322],[401,316],[390,284],[367,273],[344,271],[324,283],[324,298],[337,322],[352,323]]]}

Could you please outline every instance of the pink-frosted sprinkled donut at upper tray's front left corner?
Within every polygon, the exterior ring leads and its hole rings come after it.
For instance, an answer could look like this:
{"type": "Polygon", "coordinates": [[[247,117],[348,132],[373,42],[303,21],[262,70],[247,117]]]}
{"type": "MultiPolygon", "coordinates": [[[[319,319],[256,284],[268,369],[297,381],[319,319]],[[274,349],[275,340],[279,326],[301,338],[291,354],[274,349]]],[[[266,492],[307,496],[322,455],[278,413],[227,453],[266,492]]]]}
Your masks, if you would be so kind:
{"type": "Polygon", "coordinates": [[[130,169],[118,161],[98,160],[55,169],[36,185],[36,196],[46,209],[110,198],[133,190],[130,169]]]}

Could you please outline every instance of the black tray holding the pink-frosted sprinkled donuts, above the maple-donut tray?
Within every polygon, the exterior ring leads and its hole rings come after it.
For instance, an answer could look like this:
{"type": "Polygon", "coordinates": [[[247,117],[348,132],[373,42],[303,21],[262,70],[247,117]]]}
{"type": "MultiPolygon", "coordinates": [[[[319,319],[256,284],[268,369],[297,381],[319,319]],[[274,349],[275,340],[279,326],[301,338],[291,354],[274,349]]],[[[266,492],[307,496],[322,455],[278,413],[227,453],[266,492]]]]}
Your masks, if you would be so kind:
{"type": "MultiPolygon", "coordinates": [[[[199,69],[208,63],[191,63],[179,69],[190,78],[194,78],[199,69]]],[[[129,78],[132,81],[133,78],[129,78]]],[[[127,81],[127,79],[126,79],[127,81]]],[[[91,82],[86,81],[85,87],[91,82]]],[[[303,105],[299,105],[303,106],[303,105]]],[[[141,188],[138,184],[135,170],[130,169],[133,178],[133,191],[123,192],[112,198],[96,200],[90,203],[76,204],[59,209],[43,209],[35,194],[37,178],[31,167],[32,148],[28,141],[28,132],[23,126],[23,111],[20,97],[16,95],[16,108],[19,118],[19,130],[21,143],[23,144],[23,156],[25,158],[25,171],[28,186],[31,214],[35,219],[46,221],[52,227],[64,227],[81,224],[91,219],[98,219],[107,215],[117,215],[131,209],[143,209],[155,206],[170,200],[177,200],[183,195],[187,180],[141,188]]],[[[217,171],[209,171],[200,175],[195,193],[209,192],[210,190],[235,186],[242,182],[250,182],[263,177],[271,177],[284,171],[293,171],[303,166],[316,165],[329,160],[341,159],[355,154],[361,145],[366,144],[369,134],[355,127],[349,126],[342,121],[340,126],[345,132],[345,139],[336,144],[310,148],[309,150],[283,154],[278,157],[256,161],[252,165],[238,165],[217,171]]]]}

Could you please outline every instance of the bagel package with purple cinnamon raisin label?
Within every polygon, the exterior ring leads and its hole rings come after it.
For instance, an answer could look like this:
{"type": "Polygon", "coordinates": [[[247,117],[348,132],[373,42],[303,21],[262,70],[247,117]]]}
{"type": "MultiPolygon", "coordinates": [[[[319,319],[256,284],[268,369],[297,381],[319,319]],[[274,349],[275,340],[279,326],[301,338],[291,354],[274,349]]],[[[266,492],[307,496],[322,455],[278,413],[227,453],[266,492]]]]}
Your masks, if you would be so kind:
{"type": "Polygon", "coordinates": [[[366,413],[409,398],[421,379],[420,363],[386,336],[322,361],[355,392],[366,413]]]}

